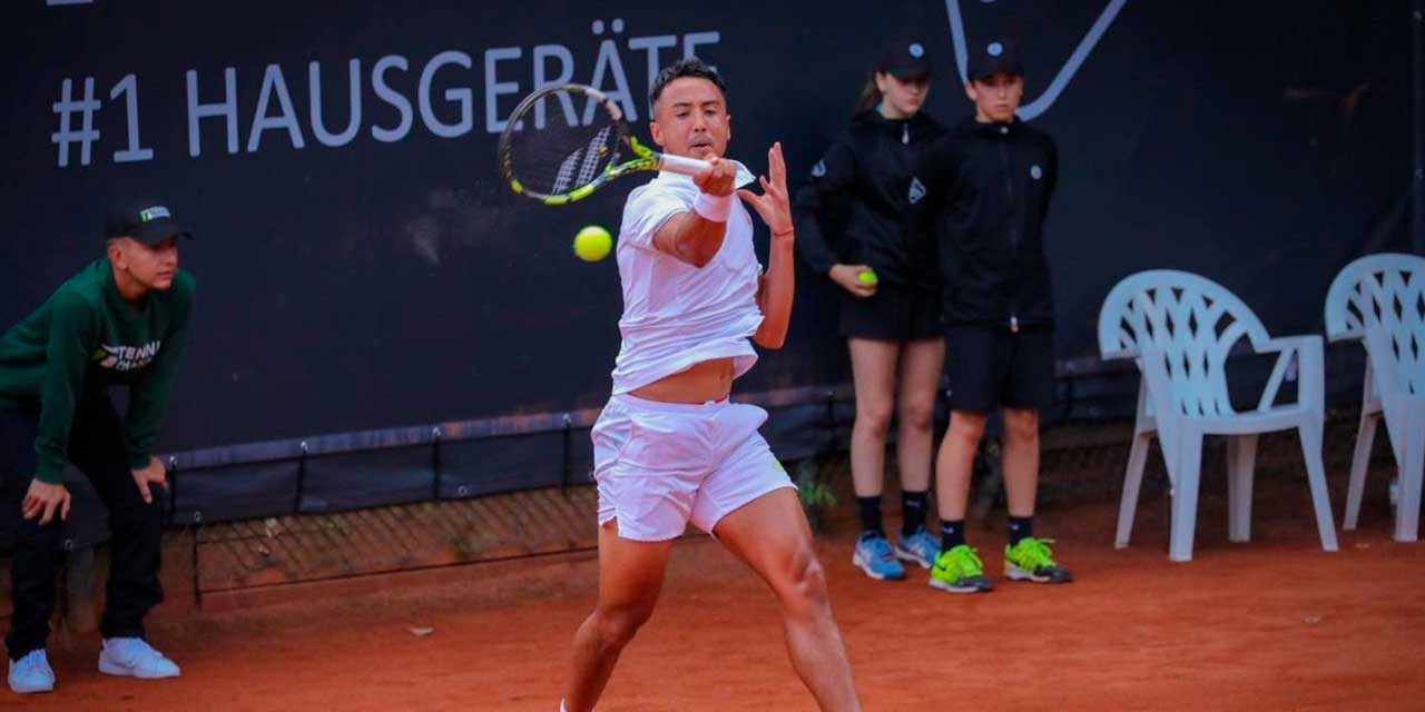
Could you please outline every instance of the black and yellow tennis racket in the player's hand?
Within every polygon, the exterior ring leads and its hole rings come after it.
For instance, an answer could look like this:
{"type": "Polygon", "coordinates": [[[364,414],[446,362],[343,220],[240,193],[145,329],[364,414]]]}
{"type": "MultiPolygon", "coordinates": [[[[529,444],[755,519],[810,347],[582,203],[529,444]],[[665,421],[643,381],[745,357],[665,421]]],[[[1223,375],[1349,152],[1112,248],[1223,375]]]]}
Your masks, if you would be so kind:
{"type": "Polygon", "coordinates": [[[544,205],[581,201],[638,171],[697,175],[705,161],[660,154],[628,135],[623,110],[581,84],[542,88],[514,107],[499,144],[500,175],[544,205]]]}

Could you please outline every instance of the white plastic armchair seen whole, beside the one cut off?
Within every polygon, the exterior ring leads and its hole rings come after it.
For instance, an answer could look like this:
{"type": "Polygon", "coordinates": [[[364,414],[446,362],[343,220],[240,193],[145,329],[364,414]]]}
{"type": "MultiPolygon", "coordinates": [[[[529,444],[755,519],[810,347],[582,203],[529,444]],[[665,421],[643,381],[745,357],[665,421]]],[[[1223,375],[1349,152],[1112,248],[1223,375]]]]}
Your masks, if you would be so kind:
{"type": "Polygon", "coordinates": [[[1099,349],[1104,359],[1134,359],[1139,384],[1133,449],[1123,478],[1114,544],[1129,545],[1149,444],[1157,436],[1173,486],[1168,558],[1191,561],[1203,436],[1227,441],[1228,525],[1231,541],[1251,538],[1253,464],[1257,436],[1297,429],[1307,461],[1321,548],[1337,550],[1321,463],[1324,369],[1320,336],[1273,339],[1240,299],[1221,285],[1187,272],[1156,269],[1119,282],[1099,312],[1099,349]],[[1237,413],[1227,393],[1227,356],[1240,339],[1257,353],[1280,353],[1255,410],[1237,413]],[[1275,404],[1290,366],[1298,363],[1297,403],[1275,404]]]}

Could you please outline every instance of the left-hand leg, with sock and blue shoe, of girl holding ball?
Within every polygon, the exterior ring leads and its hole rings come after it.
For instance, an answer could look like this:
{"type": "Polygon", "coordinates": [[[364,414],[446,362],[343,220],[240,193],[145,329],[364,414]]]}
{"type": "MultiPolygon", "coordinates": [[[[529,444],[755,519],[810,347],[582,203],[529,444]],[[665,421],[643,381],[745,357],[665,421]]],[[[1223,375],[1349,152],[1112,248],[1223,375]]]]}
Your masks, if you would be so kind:
{"type": "Polygon", "coordinates": [[[861,537],[856,540],[852,562],[871,578],[905,578],[905,568],[892,555],[881,523],[886,430],[895,410],[895,372],[901,345],[859,337],[851,337],[846,343],[856,389],[856,420],[851,427],[851,480],[861,514],[861,537]]]}

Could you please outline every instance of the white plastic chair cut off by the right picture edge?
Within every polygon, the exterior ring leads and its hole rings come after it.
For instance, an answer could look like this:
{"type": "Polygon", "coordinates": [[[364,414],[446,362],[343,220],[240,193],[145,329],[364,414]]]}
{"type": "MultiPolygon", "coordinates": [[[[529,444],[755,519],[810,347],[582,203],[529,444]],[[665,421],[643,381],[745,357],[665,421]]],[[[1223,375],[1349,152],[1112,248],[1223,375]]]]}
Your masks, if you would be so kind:
{"type": "Polygon", "coordinates": [[[1367,353],[1361,430],[1341,527],[1354,530],[1361,514],[1371,443],[1384,416],[1401,467],[1395,541],[1415,541],[1425,477],[1425,258],[1368,255],[1347,265],[1327,292],[1327,336],[1361,339],[1367,353]]]}

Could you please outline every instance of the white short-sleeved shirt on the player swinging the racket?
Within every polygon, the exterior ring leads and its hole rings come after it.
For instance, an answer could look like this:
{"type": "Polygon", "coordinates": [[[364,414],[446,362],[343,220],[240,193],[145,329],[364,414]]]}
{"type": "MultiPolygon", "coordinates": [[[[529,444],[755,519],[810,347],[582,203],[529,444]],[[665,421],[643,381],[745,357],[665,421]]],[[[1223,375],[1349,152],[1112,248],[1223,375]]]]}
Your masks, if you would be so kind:
{"type": "MultiPolygon", "coordinates": [[[[737,164],[737,185],[752,174],[737,164]]],[[[614,393],[628,393],[712,359],[734,359],[738,377],[757,363],[748,339],[762,323],[752,251],[752,218],[732,197],[717,256],[701,269],[658,252],[653,236],[668,218],[691,211],[701,192],[687,175],[660,172],[634,188],[618,228],[623,345],[614,362],[614,393]]]]}

